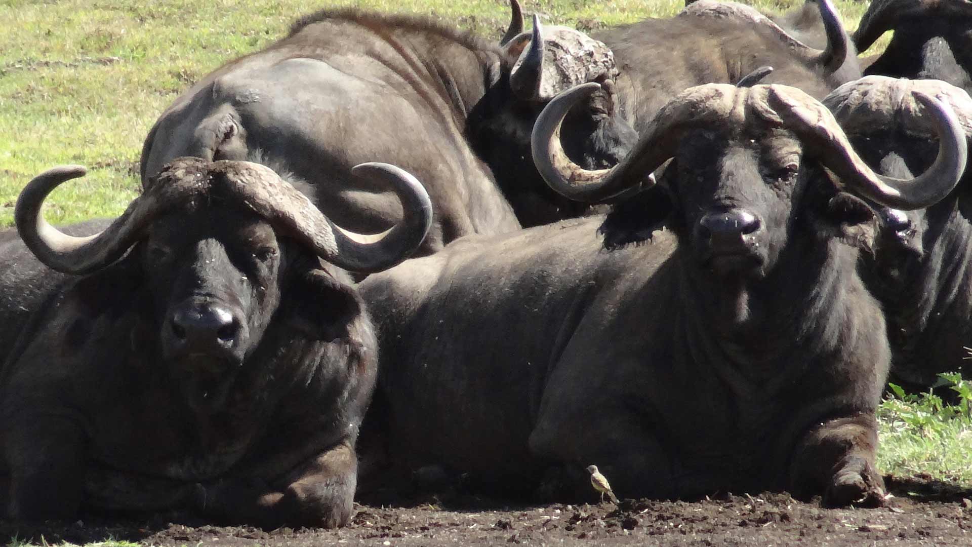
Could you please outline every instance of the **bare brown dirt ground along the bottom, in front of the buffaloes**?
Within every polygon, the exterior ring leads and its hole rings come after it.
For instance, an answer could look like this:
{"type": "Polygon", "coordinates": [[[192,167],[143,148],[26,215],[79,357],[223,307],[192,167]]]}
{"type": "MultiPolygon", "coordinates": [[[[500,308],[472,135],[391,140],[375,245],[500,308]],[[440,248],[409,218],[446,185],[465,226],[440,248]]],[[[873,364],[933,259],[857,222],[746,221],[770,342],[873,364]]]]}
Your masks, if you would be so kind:
{"type": "Polygon", "coordinates": [[[106,539],[148,545],[972,545],[972,488],[930,477],[885,477],[893,497],[877,509],[824,509],[786,493],[700,501],[510,506],[470,494],[424,494],[357,505],[344,529],[216,527],[177,513],[120,521],[0,522],[0,540],[36,544],[106,539]]]}

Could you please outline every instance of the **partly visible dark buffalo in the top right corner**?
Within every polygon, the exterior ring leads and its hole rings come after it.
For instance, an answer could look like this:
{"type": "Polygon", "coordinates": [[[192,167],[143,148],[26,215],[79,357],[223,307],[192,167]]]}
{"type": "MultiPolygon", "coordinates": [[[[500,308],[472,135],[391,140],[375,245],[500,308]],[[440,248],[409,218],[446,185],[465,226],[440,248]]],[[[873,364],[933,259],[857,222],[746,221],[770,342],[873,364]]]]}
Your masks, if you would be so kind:
{"type": "Polygon", "coordinates": [[[853,34],[860,52],[893,30],[864,73],[943,80],[972,92],[972,5],[962,0],[874,0],[853,34]]]}

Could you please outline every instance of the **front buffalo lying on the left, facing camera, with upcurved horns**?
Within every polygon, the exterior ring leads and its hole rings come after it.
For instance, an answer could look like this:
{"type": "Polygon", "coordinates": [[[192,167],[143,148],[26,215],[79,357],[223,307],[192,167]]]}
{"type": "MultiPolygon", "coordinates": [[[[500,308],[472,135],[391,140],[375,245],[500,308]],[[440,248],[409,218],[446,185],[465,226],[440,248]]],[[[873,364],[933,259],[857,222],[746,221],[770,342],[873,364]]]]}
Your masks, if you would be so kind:
{"type": "Polygon", "coordinates": [[[176,160],[89,237],[40,213],[85,169],[32,180],[15,218],[36,260],[5,243],[0,268],[5,283],[50,288],[28,320],[0,318],[4,339],[18,337],[0,376],[7,515],[189,508],[268,527],[346,523],[377,356],[342,269],[395,264],[432,217],[398,167],[354,171],[391,184],[406,211],[370,243],[260,164],[176,160]]]}

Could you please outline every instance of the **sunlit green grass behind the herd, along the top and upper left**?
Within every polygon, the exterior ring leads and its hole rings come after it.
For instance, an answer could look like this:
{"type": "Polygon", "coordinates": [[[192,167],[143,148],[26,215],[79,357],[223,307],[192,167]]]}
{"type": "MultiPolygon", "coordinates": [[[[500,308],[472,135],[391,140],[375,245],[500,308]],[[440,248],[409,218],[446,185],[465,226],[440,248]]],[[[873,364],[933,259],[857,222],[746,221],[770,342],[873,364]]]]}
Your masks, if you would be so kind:
{"type": "MultiPolygon", "coordinates": [[[[757,0],[783,11],[802,0],[757,0]]],[[[425,14],[499,38],[507,0],[0,0],[0,228],[13,224],[24,184],[58,164],[89,174],[54,192],[48,217],[68,223],[115,216],[139,187],[142,141],[192,82],[226,60],[280,38],[324,6],[425,14]]],[[[527,13],[582,27],[668,17],[682,0],[539,0],[527,13]]],[[[849,27],[864,4],[838,0],[849,27]]]]}

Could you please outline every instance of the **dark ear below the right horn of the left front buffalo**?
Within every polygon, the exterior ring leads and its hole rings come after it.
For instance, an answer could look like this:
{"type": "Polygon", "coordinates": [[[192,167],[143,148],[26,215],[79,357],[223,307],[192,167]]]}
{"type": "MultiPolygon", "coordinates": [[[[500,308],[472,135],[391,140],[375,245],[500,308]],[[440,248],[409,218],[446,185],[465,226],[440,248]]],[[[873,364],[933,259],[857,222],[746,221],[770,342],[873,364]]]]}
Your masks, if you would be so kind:
{"type": "Polygon", "coordinates": [[[288,323],[311,340],[347,337],[348,326],[364,312],[364,301],[349,282],[320,269],[296,274],[283,298],[288,323]]]}

